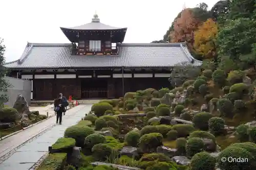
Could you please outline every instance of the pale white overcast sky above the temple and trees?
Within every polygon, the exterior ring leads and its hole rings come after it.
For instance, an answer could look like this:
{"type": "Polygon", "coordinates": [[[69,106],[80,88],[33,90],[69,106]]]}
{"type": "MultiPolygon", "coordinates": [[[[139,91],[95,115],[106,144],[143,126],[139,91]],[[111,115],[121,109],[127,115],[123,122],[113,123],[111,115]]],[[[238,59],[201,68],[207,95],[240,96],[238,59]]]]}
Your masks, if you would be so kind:
{"type": "Polygon", "coordinates": [[[205,2],[211,8],[216,0],[2,0],[0,37],[6,45],[6,61],[17,60],[27,42],[68,43],[59,27],[91,22],[95,11],[100,22],[127,27],[124,42],[147,43],[163,38],[184,4],[193,8],[205,2]]]}

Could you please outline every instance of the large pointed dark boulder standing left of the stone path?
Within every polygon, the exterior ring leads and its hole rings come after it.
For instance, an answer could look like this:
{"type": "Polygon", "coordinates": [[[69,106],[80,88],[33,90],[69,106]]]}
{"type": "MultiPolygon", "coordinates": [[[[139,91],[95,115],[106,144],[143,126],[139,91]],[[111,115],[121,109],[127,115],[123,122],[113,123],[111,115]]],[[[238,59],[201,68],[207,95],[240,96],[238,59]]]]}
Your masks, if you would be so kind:
{"type": "Polygon", "coordinates": [[[29,115],[31,112],[29,111],[29,106],[27,103],[27,100],[22,94],[18,94],[16,101],[13,105],[13,108],[15,108],[19,114],[27,114],[29,115]]]}

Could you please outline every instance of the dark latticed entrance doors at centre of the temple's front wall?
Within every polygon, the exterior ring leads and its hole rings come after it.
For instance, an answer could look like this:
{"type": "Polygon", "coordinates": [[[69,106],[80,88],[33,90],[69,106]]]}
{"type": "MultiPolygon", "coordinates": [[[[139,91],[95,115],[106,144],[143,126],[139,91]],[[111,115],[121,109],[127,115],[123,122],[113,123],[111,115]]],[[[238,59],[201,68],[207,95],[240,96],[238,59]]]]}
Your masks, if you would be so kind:
{"type": "Polygon", "coordinates": [[[105,79],[82,79],[82,99],[106,99],[108,98],[108,80],[105,79]]]}

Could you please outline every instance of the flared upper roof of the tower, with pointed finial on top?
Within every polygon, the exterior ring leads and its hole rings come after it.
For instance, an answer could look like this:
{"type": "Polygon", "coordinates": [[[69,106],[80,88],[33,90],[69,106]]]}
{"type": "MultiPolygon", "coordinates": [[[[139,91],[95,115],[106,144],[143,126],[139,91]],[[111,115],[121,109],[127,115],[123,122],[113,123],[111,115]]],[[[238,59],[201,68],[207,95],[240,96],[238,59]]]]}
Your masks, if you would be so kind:
{"type": "Polygon", "coordinates": [[[109,34],[113,42],[123,42],[127,30],[127,28],[112,27],[101,23],[97,14],[90,23],[76,27],[60,27],[60,29],[71,42],[79,42],[81,39],[97,39],[99,32],[104,35],[109,34]]]}

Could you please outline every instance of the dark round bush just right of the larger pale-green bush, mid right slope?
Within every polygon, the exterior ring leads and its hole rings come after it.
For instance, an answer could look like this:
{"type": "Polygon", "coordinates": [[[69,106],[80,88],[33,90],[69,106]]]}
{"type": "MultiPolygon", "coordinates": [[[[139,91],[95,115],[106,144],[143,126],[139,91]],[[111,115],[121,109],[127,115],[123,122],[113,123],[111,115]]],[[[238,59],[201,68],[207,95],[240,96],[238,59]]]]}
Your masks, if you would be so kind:
{"type": "Polygon", "coordinates": [[[210,133],[219,135],[224,133],[225,120],[221,117],[211,117],[208,122],[210,133]]]}

